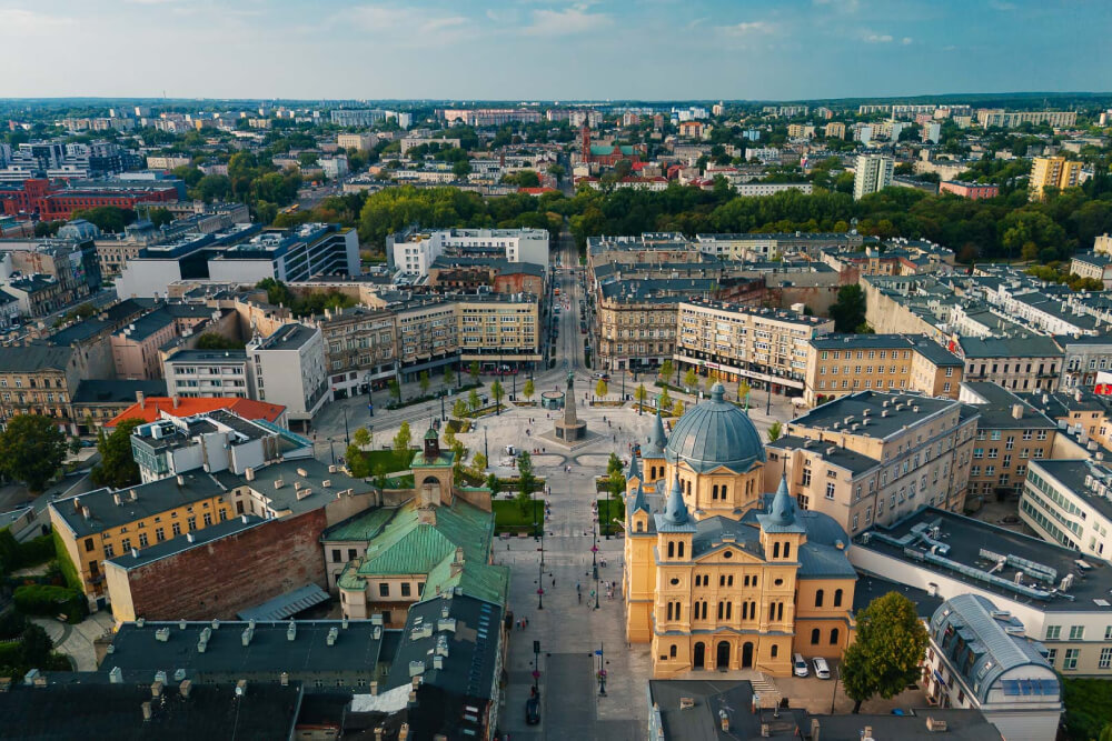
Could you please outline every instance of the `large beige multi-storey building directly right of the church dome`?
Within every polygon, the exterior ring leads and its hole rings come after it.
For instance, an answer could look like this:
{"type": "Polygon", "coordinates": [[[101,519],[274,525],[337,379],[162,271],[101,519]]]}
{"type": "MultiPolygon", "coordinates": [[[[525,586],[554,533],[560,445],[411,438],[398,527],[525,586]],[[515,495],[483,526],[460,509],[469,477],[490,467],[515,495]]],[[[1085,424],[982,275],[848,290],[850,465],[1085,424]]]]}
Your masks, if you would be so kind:
{"type": "Polygon", "coordinates": [[[858,391],[788,422],[768,444],[764,488],[786,477],[801,509],[851,534],[924,505],[961,512],[977,419],[949,399],[858,391]]]}

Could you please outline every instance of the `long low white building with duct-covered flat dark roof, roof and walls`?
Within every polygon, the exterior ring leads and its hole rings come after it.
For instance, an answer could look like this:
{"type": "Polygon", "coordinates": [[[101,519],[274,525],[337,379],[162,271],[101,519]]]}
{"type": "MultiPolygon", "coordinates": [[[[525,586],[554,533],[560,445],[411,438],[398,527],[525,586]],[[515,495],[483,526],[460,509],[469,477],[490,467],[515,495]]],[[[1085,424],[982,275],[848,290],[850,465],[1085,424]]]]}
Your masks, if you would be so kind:
{"type": "Polygon", "coordinates": [[[943,599],[975,594],[1023,623],[1064,677],[1112,677],[1112,565],[934,508],[854,538],[858,571],[943,599]]]}

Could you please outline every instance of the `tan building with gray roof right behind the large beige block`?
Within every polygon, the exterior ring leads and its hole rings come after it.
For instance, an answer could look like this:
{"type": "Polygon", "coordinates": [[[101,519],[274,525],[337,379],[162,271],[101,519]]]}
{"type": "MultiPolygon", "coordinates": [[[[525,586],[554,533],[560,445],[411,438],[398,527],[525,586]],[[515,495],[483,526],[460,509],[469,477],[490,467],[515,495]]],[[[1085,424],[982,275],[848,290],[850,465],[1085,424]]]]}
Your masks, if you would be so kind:
{"type": "Polygon", "coordinates": [[[1014,393],[984,382],[963,382],[959,399],[980,414],[969,493],[1017,492],[1033,460],[1051,458],[1058,423],[1014,393]]]}

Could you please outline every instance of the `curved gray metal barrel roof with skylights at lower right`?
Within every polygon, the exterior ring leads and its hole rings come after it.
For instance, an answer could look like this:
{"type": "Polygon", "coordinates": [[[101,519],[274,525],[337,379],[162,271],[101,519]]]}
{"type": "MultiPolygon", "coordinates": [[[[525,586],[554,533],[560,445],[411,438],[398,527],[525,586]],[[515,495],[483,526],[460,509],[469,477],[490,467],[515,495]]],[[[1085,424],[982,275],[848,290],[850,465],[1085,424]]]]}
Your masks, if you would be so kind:
{"type": "Polygon", "coordinates": [[[976,693],[981,702],[987,702],[989,693],[996,689],[996,680],[1004,672],[1019,667],[1044,669],[1046,677],[1037,681],[1052,687],[1043,684],[1040,694],[1056,695],[1061,691],[1059,682],[1050,679],[1053,670],[1042,654],[1042,645],[1023,635],[1007,633],[1005,628],[1022,629],[1023,623],[1011,615],[994,615],[995,611],[996,605],[980,594],[950,598],[931,619],[934,642],[942,647],[943,637],[951,629],[965,640],[962,654],[951,655],[950,663],[962,673],[966,687],[976,693]],[[966,663],[966,653],[973,655],[970,663],[966,663]],[[963,671],[964,667],[969,667],[967,672],[963,671]]]}

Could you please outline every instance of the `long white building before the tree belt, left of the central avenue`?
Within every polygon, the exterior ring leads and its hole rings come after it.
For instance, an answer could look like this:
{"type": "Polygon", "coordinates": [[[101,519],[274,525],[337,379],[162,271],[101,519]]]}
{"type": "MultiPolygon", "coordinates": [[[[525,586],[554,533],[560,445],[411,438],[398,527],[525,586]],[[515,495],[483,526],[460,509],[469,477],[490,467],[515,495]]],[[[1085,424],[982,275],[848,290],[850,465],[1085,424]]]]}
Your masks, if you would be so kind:
{"type": "Polygon", "coordinates": [[[427,276],[438,257],[495,257],[510,262],[548,264],[548,231],[545,229],[444,229],[408,231],[387,239],[394,269],[410,276],[427,276]]]}

